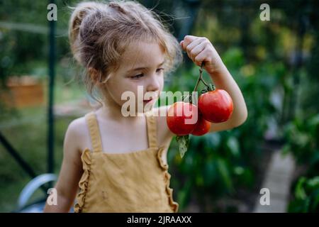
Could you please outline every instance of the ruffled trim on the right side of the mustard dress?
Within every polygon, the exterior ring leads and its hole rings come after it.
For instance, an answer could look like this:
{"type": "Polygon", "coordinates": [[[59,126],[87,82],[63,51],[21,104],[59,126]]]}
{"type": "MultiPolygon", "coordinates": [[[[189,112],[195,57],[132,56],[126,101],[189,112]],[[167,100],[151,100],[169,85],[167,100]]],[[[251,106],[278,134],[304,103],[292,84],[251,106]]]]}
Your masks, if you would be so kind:
{"type": "Polygon", "coordinates": [[[165,179],[165,183],[166,183],[166,193],[167,196],[169,198],[169,206],[171,206],[172,210],[177,213],[178,209],[179,209],[179,204],[177,204],[177,202],[175,202],[173,200],[173,189],[171,189],[169,187],[169,182],[171,179],[171,175],[168,172],[168,165],[163,163],[162,160],[162,153],[164,152],[164,147],[159,148],[158,153],[157,153],[157,160],[159,162],[160,167],[162,167],[162,170],[164,170],[164,179],[165,179]]]}

